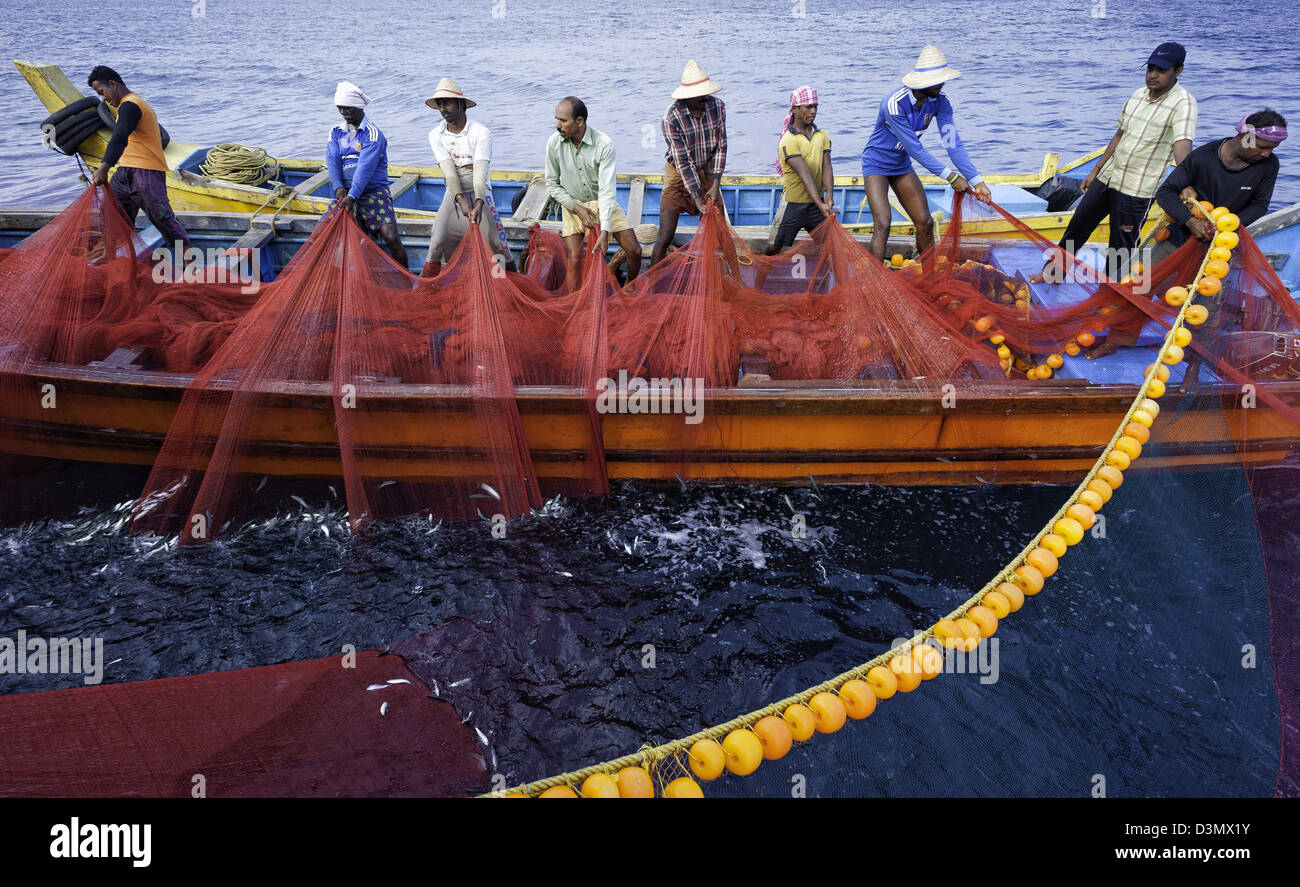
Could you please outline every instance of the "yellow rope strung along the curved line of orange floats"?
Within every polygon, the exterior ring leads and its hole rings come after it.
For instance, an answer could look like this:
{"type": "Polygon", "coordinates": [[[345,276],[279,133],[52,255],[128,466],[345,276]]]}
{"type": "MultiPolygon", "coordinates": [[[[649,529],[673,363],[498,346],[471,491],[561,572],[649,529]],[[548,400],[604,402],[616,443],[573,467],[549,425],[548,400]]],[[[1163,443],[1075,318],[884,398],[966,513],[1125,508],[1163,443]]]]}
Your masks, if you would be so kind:
{"type": "MultiPolygon", "coordinates": [[[[984,585],[984,588],[982,588],[965,603],[962,603],[956,610],[944,616],[944,619],[962,618],[963,615],[966,615],[966,611],[970,610],[972,606],[975,606],[978,602],[980,602],[985,594],[992,592],[1004,581],[1009,581],[1010,577],[1015,574],[1017,567],[1022,566],[1024,563],[1026,557],[1028,557],[1028,554],[1034,551],[1034,549],[1039,548],[1039,542],[1043,540],[1043,537],[1052,532],[1052,527],[1056,524],[1056,522],[1065,516],[1066,511],[1070,509],[1071,505],[1078,502],[1079,494],[1088,488],[1088,484],[1093,480],[1093,477],[1097,476],[1097,472],[1106,464],[1106,457],[1110,455],[1110,453],[1114,450],[1115,442],[1121,437],[1123,437],[1124,429],[1128,427],[1128,423],[1132,421],[1134,412],[1136,412],[1141,402],[1147,399],[1147,390],[1150,386],[1152,380],[1156,377],[1156,373],[1158,372],[1161,364],[1164,363],[1165,355],[1169,354],[1169,347],[1174,343],[1174,334],[1178,332],[1179,326],[1183,325],[1183,317],[1187,315],[1187,310],[1196,300],[1197,295],[1196,286],[1197,284],[1200,284],[1201,277],[1204,277],[1205,274],[1205,264],[1208,261],[1209,261],[1209,251],[1206,250],[1205,258],[1201,260],[1201,267],[1197,269],[1195,280],[1187,287],[1190,297],[1187,302],[1184,302],[1183,306],[1179,308],[1178,316],[1174,317],[1174,321],[1169,329],[1169,334],[1165,337],[1165,342],[1161,345],[1160,351],[1156,354],[1156,360],[1152,363],[1150,369],[1147,372],[1145,378],[1143,378],[1143,384],[1141,388],[1138,390],[1138,395],[1132,399],[1132,403],[1128,404],[1128,410],[1124,411],[1123,419],[1119,420],[1119,425],[1118,428],[1115,428],[1115,433],[1110,436],[1110,441],[1101,451],[1101,455],[1097,457],[1097,460],[1093,463],[1087,476],[1084,476],[1084,479],[1079,483],[1074,493],[1066,499],[1065,505],[1062,505],[1061,509],[1048,520],[1046,525],[1032,536],[1032,541],[1028,545],[1026,545],[1020,550],[1020,553],[1015,555],[1015,558],[1008,562],[1008,564],[1002,567],[1002,570],[993,579],[991,579],[988,584],[984,585]]],[[[939,622],[942,622],[944,619],[940,619],[939,622]]],[[[729,734],[732,730],[750,727],[762,718],[766,718],[768,715],[781,717],[785,709],[789,708],[790,705],[806,702],[818,693],[827,693],[835,691],[846,680],[863,678],[868,671],[871,671],[871,669],[884,665],[885,662],[893,659],[897,655],[904,655],[914,646],[933,637],[935,627],[937,624],[939,623],[935,623],[935,626],[931,626],[924,632],[914,635],[910,640],[905,641],[900,646],[890,648],[889,650],[881,653],[870,662],[863,662],[862,665],[855,666],[842,674],[838,674],[835,678],[831,678],[829,680],[818,684],[816,687],[810,687],[800,693],[796,693],[794,696],[788,696],[784,700],[779,702],[772,702],[771,705],[758,709],[757,711],[750,711],[749,714],[742,714],[737,718],[732,718],[727,723],[720,723],[712,727],[707,727],[697,734],[692,734],[690,736],[673,740],[664,745],[644,745],[641,750],[636,752],[634,754],[625,754],[612,761],[604,761],[603,763],[595,763],[589,767],[582,767],[581,770],[573,770],[571,773],[560,774],[558,776],[538,779],[537,782],[526,783],[516,788],[503,789],[498,792],[489,792],[486,795],[482,795],[481,797],[504,797],[507,793],[516,793],[516,792],[532,797],[537,793],[546,791],[547,788],[554,788],[555,786],[566,786],[566,784],[569,787],[581,786],[581,782],[593,774],[597,773],[614,774],[618,770],[621,770],[623,767],[630,767],[630,766],[644,766],[646,770],[654,774],[656,770],[656,765],[660,760],[670,756],[676,756],[680,752],[685,752],[701,739],[716,739],[719,736],[729,734]]],[[[983,642],[984,640],[985,639],[982,637],[980,642],[983,642]]]]}

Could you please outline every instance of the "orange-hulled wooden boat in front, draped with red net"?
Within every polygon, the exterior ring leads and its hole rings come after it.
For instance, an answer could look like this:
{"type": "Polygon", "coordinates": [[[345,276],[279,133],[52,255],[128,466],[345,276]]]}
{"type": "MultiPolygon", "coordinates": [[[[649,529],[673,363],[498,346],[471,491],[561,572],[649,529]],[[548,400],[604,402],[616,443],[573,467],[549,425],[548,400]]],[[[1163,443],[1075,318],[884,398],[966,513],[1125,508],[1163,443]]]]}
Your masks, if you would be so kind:
{"type": "MultiPolygon", "coordinates": [[[[0,213],[0,246],[12,246],[57,211],[16,209],[0,213]]],[[[263,251],[264,267],[281,267],[315,229],[316,218],[281,216],[248,229],[238,213],[179,213],[199,247],[231,246],[263,251]]],[[[1300,204],[1256,224],[1258,242],[1292,287],[1300,281],[1300,204]]],[[[402,222],[412,245],[428,238],[428,222],[402,222]]],[[[144,232],[146,239],[161,238],[144,232]]],[[[1014,271],[1039,261],[1024,245],[992,246],[991,259],[1014,271]],[[1028,255],[1026,256],[1026,250],[1028,255]]],[[[1031,265],[1032,267],[1032,265],[1031,265]]],[[[602,417],[611,477],[638,480],[753,483],[1017,484],[1078,480],[1092,464],[1136,394],[1141,368],[1153,347],[1124,349],[1095,362],[1069,358],[1046,381],[966,382],[956,403],[945,404],[937,385],[868,380],[845,388],[819,381],[771,381],[760,375],[737,388],[707,395],[707,421],[681,449],[680,415],[602,417]]],[[[23,412],[0,403],[0,453],[95,463],[148,466],[159,453],[191,377],[155,372],[136,351],[120,349],[91,365],[46,365],[25,380],[58,391],[57,410],[23,412]]],[[[1225,434],[1227,423],[1197,423],[1200,437],[1162,434],[1183,410],[1239,408],[1235,386],[1206,384],[1200,394],[1178,394],[1180,367],[1162,398],[1156,433],[1136,470],[1170,466],[1239,464],[1242,455],[1225,434]],[[1210,398],[1206,401],[1204,398],[1210,398]]],[[[1269,382],[1288,402],[1300,398],[1300,382],[1269,382]]],[[[584,393],[575,388],[519,388],[519,408],[541,477],[566,477],[582,458],[590,430],[584,393]]],[[[367,393],[384,404],[382,421],[369,420],[358,433],[367,442],[367,473],[422,476],[430,471],[421,451],[464,442],[472,404],[468,391],[400,381],[367,393]],[[432,404],[463,411],[430,428],[432,404]]],[[[338,471],[337,430],[328,384],[283,385],[264,423],[263,438],[250,449],[248,472],[280,476],[330,476],[338,471]]],[[[1292,453],[1300,428],[1260,402],[1251,415],[1247,460],[1274,463],[1292,453]]],[[[1186,425],[1186,423],[1184,423],[1186,425]]],[[[1180,427],[1182,429],[1182,427],[1180,427]]],[[[441,466],[438,471],[446,471],[441,466]]]]}

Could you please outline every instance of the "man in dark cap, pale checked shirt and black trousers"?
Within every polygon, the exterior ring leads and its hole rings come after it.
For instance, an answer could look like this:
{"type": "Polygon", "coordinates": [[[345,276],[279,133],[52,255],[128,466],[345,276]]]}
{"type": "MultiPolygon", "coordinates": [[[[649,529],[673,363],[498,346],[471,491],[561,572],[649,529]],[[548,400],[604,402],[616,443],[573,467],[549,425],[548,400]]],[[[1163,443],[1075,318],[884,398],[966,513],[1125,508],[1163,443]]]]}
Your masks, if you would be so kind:
{"type": "MultiPolygon", "coordinates": [[[[1161,43],[1147,59],[1145,85],[1124,101],[1119,129],[1083,179],[1083,199],[1061,238],[1061,248],[1072,255],[1109,216],[1106,273],[1112,280],[1124,273],[1138,248],[1143,221],[1169,159],[1180,164],[1192,151],[1196,99],[1178,83],[1186,59],[1187,51],[1178,43],[1161,43]]],[[[1065,256],[1054,252],[1030,282],[1057,284],[1063,278],[1065,256]]]]}

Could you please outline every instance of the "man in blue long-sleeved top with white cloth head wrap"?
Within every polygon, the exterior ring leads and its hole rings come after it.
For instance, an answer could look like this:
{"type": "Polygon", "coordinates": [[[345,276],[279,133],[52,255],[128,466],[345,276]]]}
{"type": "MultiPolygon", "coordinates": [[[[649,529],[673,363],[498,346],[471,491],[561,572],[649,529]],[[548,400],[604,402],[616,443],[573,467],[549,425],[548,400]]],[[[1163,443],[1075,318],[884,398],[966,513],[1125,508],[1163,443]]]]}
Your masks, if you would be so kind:
{"type": "Polygon", "coordinates": [[[389,192],[389,140],[365,116],[369,103],[355,85],[339,82],[334,104],[346,126],[330,130],[325,164],[334,186],[334,203],[351,212],[367,234],[387,243],[393,259],[406,268],[406,247],[398,235],[389,192]]]}

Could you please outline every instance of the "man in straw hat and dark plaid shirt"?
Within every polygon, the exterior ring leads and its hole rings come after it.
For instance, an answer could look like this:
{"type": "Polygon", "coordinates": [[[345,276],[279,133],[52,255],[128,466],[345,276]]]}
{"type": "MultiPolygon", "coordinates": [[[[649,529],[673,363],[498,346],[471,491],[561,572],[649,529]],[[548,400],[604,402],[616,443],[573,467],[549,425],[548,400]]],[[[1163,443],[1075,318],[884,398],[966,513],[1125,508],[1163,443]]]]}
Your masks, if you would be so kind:
{"type": "Polygon", "coordinates": [[[714,98],[723,87],[694,62],[686,62],[673,103],[663,112],[663,138],[668,144],[659,196],[659,238],[650,263],[668,252],[677,218],[705,215],[708,202],[722,205],[722,179],[727,168],[727,107],[714,98]]]}

